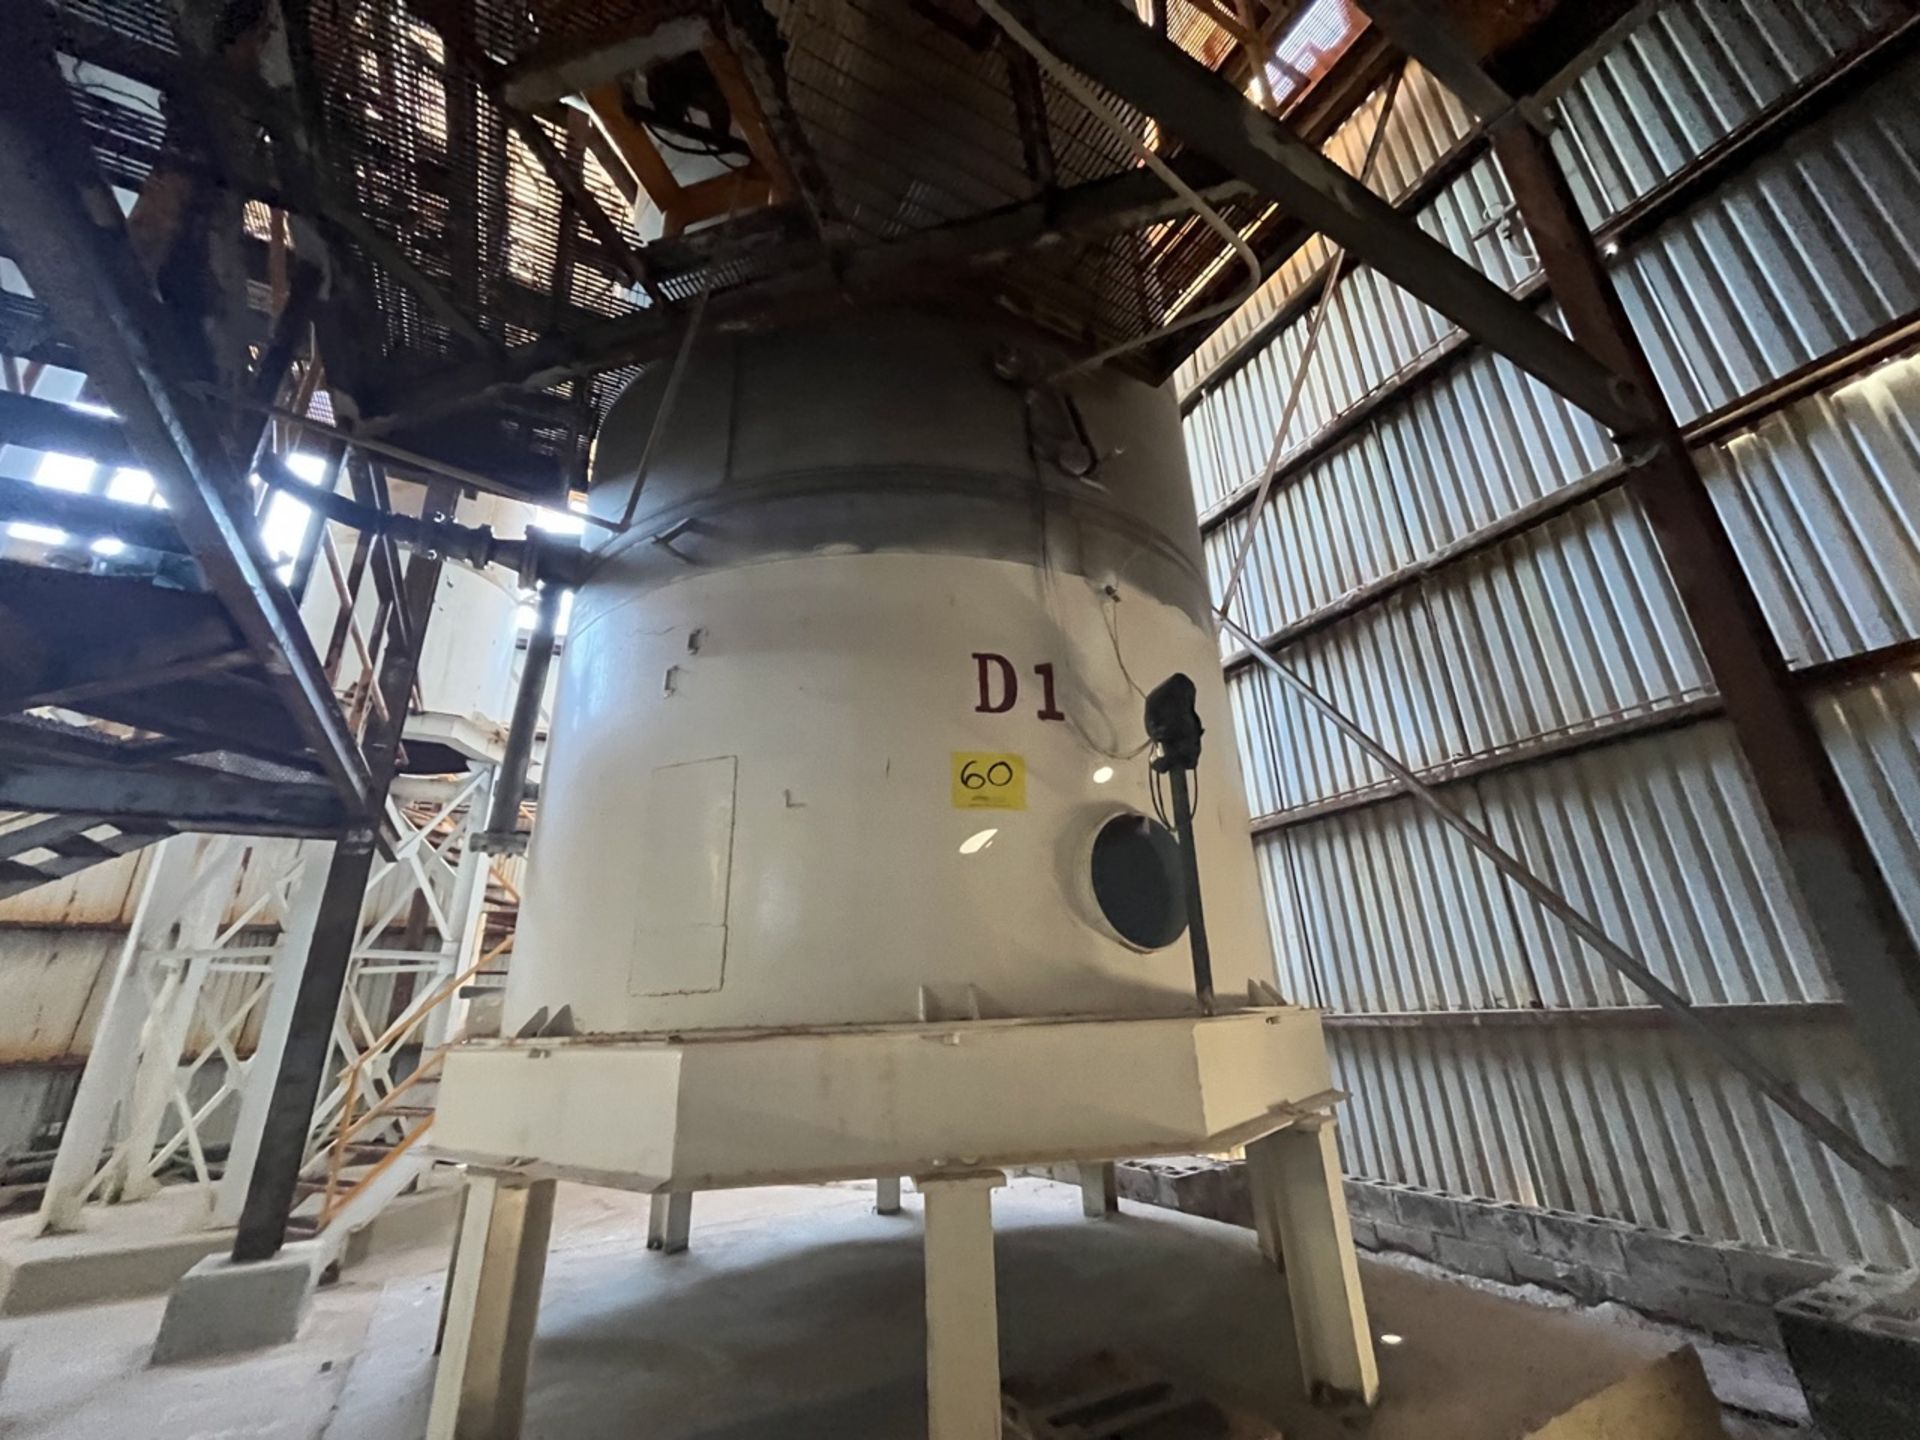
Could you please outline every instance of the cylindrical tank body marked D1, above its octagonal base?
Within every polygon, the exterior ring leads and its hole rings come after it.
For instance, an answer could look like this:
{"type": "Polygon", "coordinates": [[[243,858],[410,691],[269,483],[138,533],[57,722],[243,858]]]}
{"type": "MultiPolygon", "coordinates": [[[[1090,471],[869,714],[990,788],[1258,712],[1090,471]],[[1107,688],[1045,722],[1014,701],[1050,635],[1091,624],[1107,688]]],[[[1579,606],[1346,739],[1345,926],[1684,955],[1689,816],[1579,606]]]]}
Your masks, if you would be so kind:
{"type": "Polygon", "coordinates": [[[509,1029],[1192,1012],[1142,720],[1177,670],[1217,991],[1271,981],[1175,403],[1058,365],[902,313],[701,340],[574,603],[509,1029]]]}

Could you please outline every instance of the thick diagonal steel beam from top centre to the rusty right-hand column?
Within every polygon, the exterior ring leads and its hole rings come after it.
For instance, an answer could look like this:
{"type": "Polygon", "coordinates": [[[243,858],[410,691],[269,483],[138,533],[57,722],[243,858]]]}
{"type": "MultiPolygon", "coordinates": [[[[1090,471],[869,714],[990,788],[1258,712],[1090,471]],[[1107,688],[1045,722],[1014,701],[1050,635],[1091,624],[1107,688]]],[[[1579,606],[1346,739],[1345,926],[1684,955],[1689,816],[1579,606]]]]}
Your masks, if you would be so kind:
{"type": "Polygon", "coordinates": [[[1534,315],[1233,84],[1112,0],[1004,0],[1048,50],[1619,434],[1638,386],[1534,315]]]}

